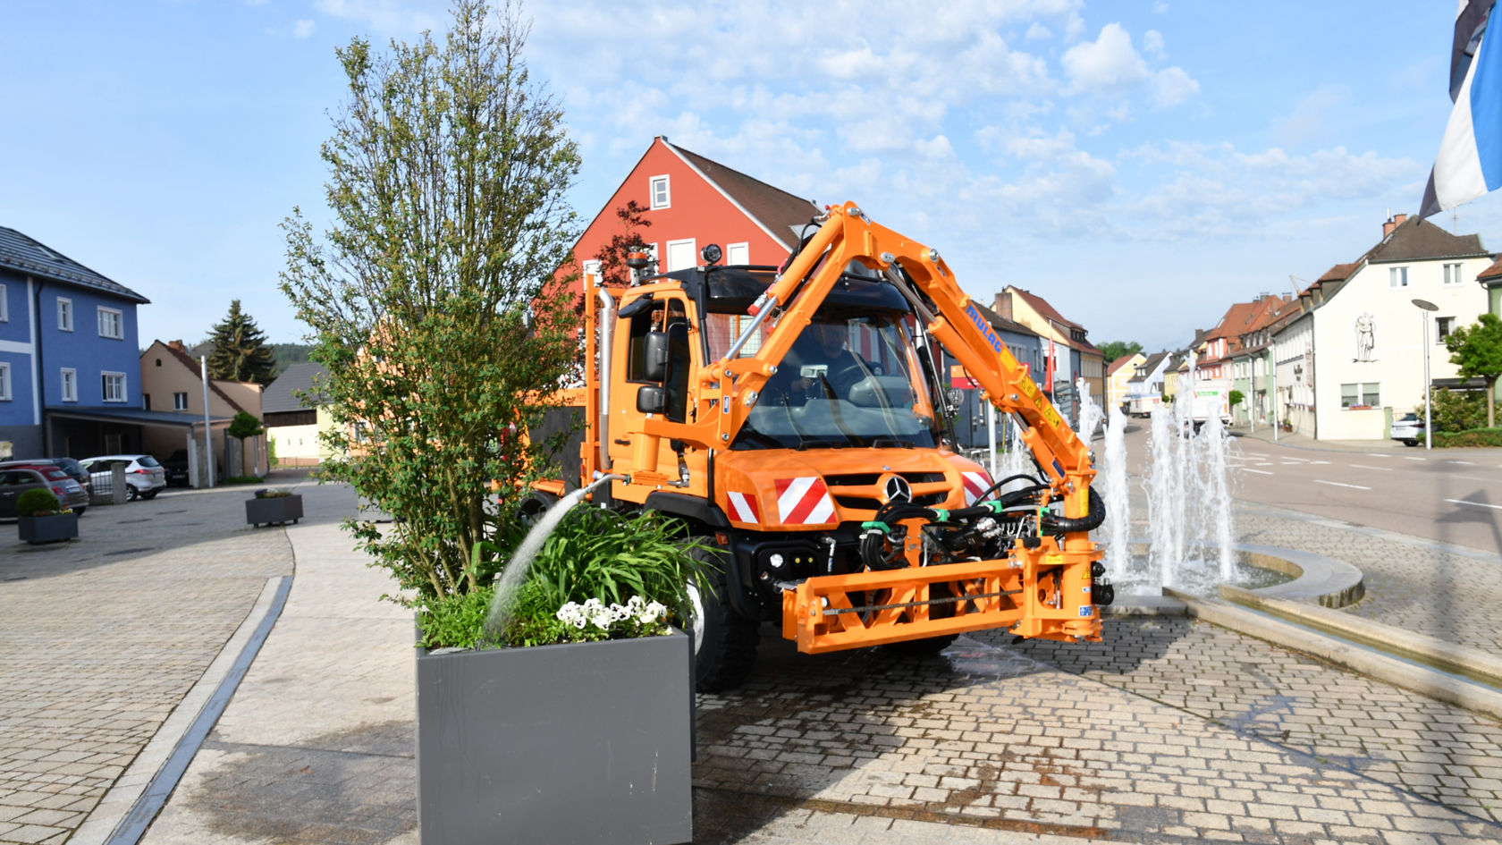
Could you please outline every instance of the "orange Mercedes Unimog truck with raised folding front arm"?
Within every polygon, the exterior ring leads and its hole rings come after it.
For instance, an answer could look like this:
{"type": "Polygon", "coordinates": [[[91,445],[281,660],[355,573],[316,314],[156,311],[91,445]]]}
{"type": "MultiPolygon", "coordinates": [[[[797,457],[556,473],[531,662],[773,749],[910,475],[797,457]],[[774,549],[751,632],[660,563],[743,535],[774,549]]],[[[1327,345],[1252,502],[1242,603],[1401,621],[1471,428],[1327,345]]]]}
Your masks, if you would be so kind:
{"type": "Polygon", "coordinates": [[[781,268],[718,253],[625,289],[586,280],[580,481],[617,475],[596,505],[707,541],[722,577],[691,591],[698,689],[745,678],[765,621],[811,654],[984,628],[1098,642],[1089,451],[939,253],[853,203],[781,268]],[[1020,421],[1036,474],[993,480],[957,451],[937,346],[1020,421]]]}

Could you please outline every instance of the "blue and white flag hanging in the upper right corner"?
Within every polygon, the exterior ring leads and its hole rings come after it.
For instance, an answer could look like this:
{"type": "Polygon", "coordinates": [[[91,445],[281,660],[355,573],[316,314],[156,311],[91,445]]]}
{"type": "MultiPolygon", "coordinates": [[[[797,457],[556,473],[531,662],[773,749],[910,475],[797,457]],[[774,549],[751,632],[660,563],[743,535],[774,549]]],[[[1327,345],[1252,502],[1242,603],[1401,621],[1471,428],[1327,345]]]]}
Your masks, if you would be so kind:
{"type": "Polygon", "coordinates": [[[1494,3],[1460,0],[1449,57],[1455,108],[1424,188],[1419,218],[1502,188],[1502,27],[1488,29],[1494,3]]]}

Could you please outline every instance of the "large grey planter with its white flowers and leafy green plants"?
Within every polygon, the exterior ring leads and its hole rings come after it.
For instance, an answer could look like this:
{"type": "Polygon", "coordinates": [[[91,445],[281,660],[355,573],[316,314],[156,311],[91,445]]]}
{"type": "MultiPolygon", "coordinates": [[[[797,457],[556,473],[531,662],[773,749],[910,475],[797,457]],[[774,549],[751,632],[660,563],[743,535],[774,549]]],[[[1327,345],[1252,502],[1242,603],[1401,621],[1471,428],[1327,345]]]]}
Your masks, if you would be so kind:
{"type": "Polygon", "coordinates": [[[671,622],[707,556],[676,534],[575,508],[502,613],[490,586],[427,603],[424,845],[692,839],[692,644],[671,622]]]}

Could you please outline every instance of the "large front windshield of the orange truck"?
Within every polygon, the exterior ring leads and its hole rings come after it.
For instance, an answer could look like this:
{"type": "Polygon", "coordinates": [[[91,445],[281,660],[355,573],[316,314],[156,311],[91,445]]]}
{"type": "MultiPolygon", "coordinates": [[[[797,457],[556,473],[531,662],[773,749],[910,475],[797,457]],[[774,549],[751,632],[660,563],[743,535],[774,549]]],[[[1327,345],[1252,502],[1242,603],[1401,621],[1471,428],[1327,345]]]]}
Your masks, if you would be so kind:
{"type": "MultiPolygon", "coordinates": [[[[939,442],[933,400],[898,311],[820,314],[793,341],[731,448],[921,447],[939,442]]],[[[709,314],[710,355],[742,320],[709,314]]],[[[753,337],[740,356],[760,347],[753,337]]]]}

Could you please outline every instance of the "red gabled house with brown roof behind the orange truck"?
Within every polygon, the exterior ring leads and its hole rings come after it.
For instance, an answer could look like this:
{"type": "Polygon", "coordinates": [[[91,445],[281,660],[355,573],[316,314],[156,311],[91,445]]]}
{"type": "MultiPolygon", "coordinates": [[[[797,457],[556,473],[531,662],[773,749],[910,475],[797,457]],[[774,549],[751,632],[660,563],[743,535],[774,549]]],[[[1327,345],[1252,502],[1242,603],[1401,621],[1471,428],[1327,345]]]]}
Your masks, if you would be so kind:
{"type": "MultiPolygon", "coordinates": [[[[598,266],[595,256],[610,238],[623,232],[616,209],[631,200],[646,209],[643,218],[652,223],[638,232],[656,256],[659,272],[703,263],[698,251],[709,244],[724,250],[725,265],[781,265],[804,226],[820,214],[810,200],[658,135],[574,245],[586,274],[598,266]]],[[[574,290],[580,290],[578,284],[574,290]]]]}

